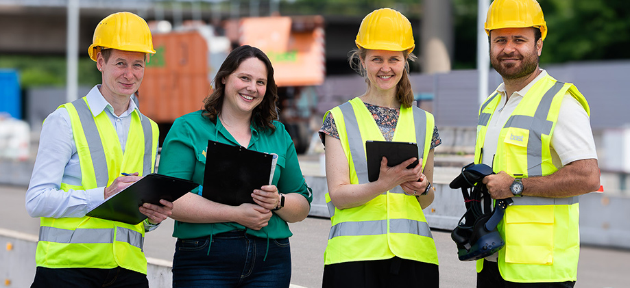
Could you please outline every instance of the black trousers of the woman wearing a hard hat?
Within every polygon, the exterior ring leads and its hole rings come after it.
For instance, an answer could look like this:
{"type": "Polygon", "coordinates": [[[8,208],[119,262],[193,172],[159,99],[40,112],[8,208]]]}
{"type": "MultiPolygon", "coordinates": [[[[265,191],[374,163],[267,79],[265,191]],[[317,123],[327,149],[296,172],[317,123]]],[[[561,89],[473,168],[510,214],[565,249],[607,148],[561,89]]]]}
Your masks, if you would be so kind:
{"type": "Polygon", "coordinates": [[[393,257],[324,266],[322,287],[439,287],[437,265],[393,257]]]}

